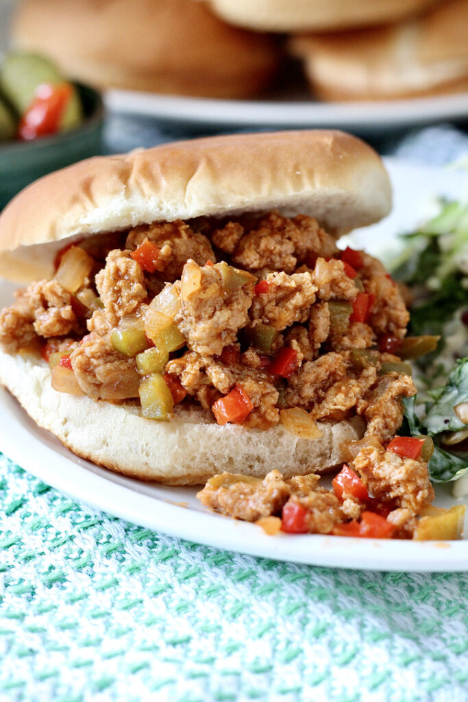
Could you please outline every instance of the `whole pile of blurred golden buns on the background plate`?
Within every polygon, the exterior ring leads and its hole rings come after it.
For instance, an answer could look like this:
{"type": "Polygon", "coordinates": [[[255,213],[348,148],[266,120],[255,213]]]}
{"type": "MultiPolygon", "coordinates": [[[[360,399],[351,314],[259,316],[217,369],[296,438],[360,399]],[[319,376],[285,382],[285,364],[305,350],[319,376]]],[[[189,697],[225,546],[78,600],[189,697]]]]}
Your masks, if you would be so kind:
{"type": "Polygon", "coordinates": [[[295,65],[314,98],[388,100],[467,89],[467,18],[468,0],[23,0],[13,41],[101,88],[256,98],[295,65]]]}

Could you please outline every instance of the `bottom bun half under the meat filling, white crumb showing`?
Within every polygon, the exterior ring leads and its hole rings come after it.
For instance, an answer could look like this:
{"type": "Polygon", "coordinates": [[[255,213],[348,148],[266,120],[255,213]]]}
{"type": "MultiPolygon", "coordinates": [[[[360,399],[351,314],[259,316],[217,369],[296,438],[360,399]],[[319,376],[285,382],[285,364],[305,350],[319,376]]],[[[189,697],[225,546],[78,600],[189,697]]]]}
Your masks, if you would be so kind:
{"type": "Polygon", "coordinates": [[[0,382],[40,427],[78,456],[125,475],[172,485],[203,483],[234,467],[256,477],[273,468],[285,477],[323,472],[346,460],[345,446],[360,439],[364,430],[361,418],[319,422],[322,437],[298,439],[280,425],[268,431],[220,427],[197,410],[158,423],[143,418],[132,404],[56,392],[46,362],[3,351],[0,382]]]}

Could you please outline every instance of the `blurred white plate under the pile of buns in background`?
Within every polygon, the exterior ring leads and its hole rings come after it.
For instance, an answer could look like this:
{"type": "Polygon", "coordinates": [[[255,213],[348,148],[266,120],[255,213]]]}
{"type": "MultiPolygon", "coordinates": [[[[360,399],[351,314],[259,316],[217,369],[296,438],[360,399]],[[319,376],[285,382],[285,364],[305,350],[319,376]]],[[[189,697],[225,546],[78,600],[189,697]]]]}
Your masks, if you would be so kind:
{"type": "Polygon", "coordinates": [[[467,119],[468,93],[388,102],[314,102],[308,95],[274,100],[213,100],[110,90],[105,104],[114,112],[156,117],[196,128],[342,128],[372,133],[435,121],[467,119]]]}

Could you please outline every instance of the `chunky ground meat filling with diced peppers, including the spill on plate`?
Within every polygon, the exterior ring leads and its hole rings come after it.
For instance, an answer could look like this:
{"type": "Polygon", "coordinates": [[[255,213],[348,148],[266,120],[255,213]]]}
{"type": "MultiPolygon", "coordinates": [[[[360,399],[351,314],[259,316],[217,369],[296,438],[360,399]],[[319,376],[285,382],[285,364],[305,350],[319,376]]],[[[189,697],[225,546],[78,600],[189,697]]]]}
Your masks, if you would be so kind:
{"type": "Polygon", "coordinates": [[[286,510],[300,522],[290,531],[327,534],[372,512],[389,536],[413,535],[434,494],[420,458],[386,450],[415,387],[388,352],[408,311],[378,260],[340,251],[314,218],[272,212],[91,237],[56,263],[0,314],[1,345],[41,352],[56,390],[140,398],[157,420],[192,403],[220,424],[282,423],[310,440],[316,420],[366,420],[343,489],[319,486],[313,466],[289,480],[223,475],[204,504],[249,521],[286,510]]]}

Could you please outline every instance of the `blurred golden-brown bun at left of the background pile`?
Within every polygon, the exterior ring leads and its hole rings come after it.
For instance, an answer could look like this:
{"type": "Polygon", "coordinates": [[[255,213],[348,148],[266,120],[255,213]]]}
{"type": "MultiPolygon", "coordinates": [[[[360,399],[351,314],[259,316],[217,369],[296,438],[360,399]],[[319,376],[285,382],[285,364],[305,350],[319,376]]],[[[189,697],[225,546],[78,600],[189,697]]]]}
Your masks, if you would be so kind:
{"type": "Polygon", "coordinates": [[[230,27],[195,0],[25,0],[13,41],[98,88],[248,98],[279,65],[272,37],[230,27]]]}

